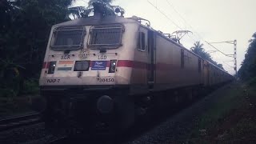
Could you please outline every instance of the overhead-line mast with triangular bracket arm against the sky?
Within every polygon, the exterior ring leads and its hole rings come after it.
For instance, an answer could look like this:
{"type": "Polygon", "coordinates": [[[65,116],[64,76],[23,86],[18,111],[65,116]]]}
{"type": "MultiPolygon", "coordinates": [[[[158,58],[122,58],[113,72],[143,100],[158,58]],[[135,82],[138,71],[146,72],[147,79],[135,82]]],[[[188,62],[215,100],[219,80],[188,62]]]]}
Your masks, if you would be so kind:
{"type": "MultiPolygon", "coordinates": [[[[210,43],[230,43],[234,45],[234,54],[224,54],[222,51],[218,50],[216,47],[214,47],[216,50],[221,52],[222,54],[226,55],[227,57],[232,57],[234,58],[234,71],[235,71],[235,77],[238,75],[238,62],[237,62],[237,40],[235,39],[234,41],[225,41],[225,42],[207,42],[208,44],[210,43]]],[[[210,45],[212,46],[212,45],[210,45]]]]}

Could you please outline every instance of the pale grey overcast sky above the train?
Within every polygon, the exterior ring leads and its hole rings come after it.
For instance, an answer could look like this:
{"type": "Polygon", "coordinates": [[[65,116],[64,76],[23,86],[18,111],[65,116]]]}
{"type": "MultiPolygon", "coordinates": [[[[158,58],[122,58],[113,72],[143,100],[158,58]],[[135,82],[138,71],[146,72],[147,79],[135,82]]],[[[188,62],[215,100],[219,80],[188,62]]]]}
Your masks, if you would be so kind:
{"type": "MultiPolygon", "coordinates": [[[[87,6],[88,0],[77,0],[74,6],[87,6]]],[[[173,33],[190,30],[193,34],[182,38],[182,44],[190,49],[195,41],[201,41],[214,61],[234,74],[234,58],[214,52],[206,42],[238,41],[238,68],[246,54],[248,40],[256,32],[256,0],[116,0],[113,5],[126,10],[125,17],[136,15],[150,21],[155,30],[173,33]],[[157,10],[158,9],[158,10],[157,10]],[[161,12],[160,12],[160,11],[161,12]]],[[[234,46],[228,43],[212,44],[225,54],[234,54],[234,46]]]]}

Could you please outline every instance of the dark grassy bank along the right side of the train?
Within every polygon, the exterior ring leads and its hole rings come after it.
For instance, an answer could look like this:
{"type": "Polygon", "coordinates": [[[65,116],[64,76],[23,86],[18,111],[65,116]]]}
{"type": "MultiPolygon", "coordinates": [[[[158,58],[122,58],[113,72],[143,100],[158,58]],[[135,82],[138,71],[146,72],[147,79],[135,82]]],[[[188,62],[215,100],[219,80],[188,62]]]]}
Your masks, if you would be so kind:
{"type": "Polygon", "coordinates": [[[198,118],[189,143],[256,143],[256,82],[234,82],[198,118]]]}

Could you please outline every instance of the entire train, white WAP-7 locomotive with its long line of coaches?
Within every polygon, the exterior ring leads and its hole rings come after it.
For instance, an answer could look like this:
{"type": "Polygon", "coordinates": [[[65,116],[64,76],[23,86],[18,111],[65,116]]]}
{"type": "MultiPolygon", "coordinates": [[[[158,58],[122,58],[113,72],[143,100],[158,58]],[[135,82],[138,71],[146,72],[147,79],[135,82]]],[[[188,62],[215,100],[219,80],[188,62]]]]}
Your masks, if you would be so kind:
{"type": "Polygon", "coordinates": [[[39,81],[46,126],[126,130],[155,103],[233,79],[142,20],[94,10],[52,26],[39,81]]]}

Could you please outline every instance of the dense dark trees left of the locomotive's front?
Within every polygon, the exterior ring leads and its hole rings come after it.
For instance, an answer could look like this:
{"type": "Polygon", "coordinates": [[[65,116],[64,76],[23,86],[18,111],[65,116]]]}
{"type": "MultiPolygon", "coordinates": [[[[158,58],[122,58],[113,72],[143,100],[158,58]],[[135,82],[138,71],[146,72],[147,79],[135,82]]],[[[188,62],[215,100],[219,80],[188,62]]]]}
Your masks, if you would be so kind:
{"type": "Polygon", "coordinates": [[[50,28],[68,19],[72,1],[0,2],[0,96],[26,93],[38,85],[50,28]]]}

